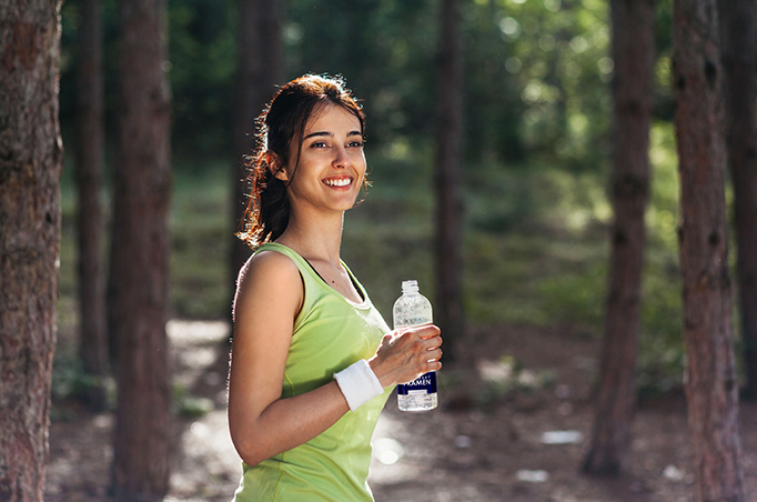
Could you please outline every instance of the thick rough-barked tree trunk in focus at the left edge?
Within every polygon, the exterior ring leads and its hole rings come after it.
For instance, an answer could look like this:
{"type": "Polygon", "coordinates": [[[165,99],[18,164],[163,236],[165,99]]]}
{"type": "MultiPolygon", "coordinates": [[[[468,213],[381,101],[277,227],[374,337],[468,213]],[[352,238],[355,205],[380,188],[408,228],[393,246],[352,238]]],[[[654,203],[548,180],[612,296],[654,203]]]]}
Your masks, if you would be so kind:
{"type": "Polygon", "coordinates": [[[0,500],[41,501],[60,249],[60,2],[0,6],[0,500]]]}

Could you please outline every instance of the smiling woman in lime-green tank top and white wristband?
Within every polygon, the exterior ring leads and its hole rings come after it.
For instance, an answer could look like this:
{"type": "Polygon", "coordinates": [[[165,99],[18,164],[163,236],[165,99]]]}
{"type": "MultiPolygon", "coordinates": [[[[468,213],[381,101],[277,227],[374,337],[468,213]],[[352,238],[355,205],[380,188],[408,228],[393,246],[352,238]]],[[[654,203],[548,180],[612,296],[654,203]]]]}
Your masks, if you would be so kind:
{"type": "Polygon", "coordinates": [[[438,370],[434,325],[390,332],[340,259],[365,183],[364,116],[341,80],[305,76],[259,118],[240,238],[229,426],[235,501],[372,501],[371,435],[397,383],[438,370]]]}

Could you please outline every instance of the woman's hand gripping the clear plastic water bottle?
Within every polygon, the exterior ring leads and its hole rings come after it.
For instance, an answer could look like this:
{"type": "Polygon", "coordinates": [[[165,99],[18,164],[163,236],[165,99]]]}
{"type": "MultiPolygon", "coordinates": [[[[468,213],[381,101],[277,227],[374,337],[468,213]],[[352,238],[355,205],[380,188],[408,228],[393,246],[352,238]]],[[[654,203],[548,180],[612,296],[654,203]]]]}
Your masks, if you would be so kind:
{"type": "Polygon", "coordinates": [[[369,364],[384,388],[412,382],[442,368],[441,345],[440,329],[433,324],[402,328],[384,335],[369,364]]]}

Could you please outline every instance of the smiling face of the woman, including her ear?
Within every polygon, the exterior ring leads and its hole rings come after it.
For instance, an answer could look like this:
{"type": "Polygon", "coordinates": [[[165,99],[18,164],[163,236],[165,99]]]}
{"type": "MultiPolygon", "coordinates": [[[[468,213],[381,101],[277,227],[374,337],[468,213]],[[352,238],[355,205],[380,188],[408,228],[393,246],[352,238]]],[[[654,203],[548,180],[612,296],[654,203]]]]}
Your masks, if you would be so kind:
{"type": "Polygon", "coordinates": [[[297,155],[299,144],[295,137],[289,164],[275,172],[276,178],[289,183],[292,209],[331,212],[352,208],[365,178],[357,117],[332,103],[316,108],[305,126],[297,155]]]}

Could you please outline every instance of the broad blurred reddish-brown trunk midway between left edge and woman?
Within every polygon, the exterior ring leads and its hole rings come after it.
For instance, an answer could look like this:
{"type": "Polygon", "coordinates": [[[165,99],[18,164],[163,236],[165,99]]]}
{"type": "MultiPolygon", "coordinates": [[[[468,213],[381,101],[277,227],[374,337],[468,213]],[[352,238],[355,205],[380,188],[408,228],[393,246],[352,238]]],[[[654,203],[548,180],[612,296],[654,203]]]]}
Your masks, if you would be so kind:
{"type": "Polygon", "coordinates": [[[165,4],[120,3],[120,120],[109,330],[117,341],[112,492],[162,500],[171,450],[169,313],[170,90],[165,4]]]}

